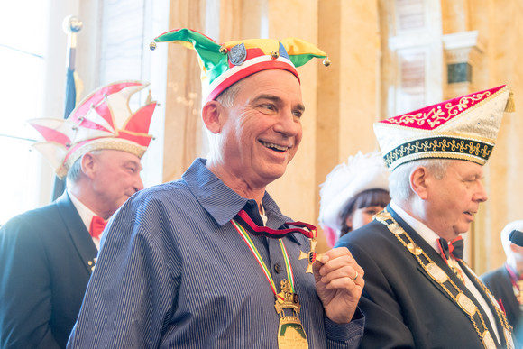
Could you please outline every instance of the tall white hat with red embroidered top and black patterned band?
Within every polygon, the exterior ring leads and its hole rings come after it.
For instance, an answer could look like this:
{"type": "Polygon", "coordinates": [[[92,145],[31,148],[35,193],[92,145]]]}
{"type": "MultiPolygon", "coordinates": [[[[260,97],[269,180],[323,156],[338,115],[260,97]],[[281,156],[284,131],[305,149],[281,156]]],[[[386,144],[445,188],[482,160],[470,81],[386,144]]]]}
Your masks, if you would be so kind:
{"type": "Polygon", "coordinates": [[[456,159],[484,165],[494,148],[503,112],[514,111],[502,85],[374,123],[389,169],[419,159],[456,159]]]}

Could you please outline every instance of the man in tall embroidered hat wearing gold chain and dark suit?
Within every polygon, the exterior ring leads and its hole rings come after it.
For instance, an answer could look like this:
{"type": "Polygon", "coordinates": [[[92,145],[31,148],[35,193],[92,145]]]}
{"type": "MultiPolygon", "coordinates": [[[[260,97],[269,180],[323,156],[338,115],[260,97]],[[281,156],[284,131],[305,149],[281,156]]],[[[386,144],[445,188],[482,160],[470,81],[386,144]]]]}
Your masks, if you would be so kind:
{"type": "Polygon", "coordinates": [[[482,165],[511,109],[501,86],[374,124],[391,202],[336,243],[365,270],[362,348],[514,348],[461,237],[487,199],[482,165]]]}

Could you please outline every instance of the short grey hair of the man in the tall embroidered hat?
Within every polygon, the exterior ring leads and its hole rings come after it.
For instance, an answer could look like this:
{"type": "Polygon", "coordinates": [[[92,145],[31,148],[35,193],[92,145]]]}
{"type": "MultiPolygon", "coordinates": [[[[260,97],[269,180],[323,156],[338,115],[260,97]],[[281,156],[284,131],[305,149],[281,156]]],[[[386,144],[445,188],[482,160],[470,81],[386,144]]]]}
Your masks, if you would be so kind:
{"type": "Polygon", "coordinates": [[[410,188],[410,174],[419,166],[425,167],[436,179],[445,177],[450,159],[422,159],[407,162],[390,173],[390,197],[396,202],[407,201],[413,194],[410,188]]]}

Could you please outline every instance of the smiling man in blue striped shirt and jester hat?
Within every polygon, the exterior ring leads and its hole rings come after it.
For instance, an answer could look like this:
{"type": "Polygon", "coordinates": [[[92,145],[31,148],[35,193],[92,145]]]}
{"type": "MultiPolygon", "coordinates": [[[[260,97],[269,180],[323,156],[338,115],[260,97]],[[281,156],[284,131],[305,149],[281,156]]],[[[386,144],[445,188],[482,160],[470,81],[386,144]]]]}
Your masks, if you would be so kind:
{"type": "Polygon", "coordinates": [[[356,348],[362,269],[345,248],[315,262],[315,227],[265,191],[301,141],[296,67],[325,53],[188,29],[156,41],[197,51],[211,152],[112,219],[68,346],[356,348]]]}

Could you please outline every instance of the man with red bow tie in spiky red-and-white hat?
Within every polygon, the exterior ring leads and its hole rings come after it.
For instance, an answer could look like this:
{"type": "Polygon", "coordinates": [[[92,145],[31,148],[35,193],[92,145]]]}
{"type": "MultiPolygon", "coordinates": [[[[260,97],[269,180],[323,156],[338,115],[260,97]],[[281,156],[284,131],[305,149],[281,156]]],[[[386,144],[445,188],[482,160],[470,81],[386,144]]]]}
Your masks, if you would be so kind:
{"type": "Polygon", "coordinates": [[[64,348],[78,317],[106,220],[143,188],[140,158],[156,103],[132,113],[129,98],[147,85],[98,88],[64,119],[30,122],[67,189],[46,207],[0,230],[0,347],[64,348]]]}

